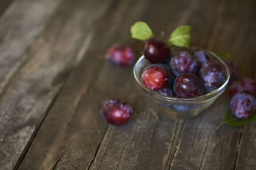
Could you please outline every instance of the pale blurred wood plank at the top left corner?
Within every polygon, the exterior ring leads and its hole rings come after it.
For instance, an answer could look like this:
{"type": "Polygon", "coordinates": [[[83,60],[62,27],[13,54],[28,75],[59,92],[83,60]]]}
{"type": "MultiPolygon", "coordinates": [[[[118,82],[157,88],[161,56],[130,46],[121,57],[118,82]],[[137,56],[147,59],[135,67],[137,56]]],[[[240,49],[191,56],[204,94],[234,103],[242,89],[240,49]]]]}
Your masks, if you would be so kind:
{"type": "Polygon", "coordinates": [[[60,0],[15,0],[0,18],[0,93],[60,0]]]}

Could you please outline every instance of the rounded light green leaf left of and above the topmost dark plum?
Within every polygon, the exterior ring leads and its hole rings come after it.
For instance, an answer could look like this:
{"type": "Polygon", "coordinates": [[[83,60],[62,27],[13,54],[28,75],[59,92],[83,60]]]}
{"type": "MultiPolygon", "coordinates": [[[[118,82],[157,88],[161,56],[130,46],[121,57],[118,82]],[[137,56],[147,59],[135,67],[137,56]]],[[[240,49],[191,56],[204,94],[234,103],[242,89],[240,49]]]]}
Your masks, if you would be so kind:
{"type": "Polygon", "coordinates": [[[131,26],[131,37],[138,40],[147,40],[150,37],[154,37],[153,32],[147,23],[138,21],[131,26]]]}

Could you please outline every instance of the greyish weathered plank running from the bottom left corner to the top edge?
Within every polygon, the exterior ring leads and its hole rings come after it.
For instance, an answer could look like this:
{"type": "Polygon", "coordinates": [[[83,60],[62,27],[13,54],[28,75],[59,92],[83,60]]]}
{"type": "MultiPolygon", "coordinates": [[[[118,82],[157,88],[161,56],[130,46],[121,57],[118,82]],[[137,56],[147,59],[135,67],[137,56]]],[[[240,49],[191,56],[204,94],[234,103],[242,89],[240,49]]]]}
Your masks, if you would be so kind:
{"type": "MultiPolygon", "coordinates": [[[[36,8],[32,12],[34,15],[43,2],[48,1],[36,2],[40,3],[35,5],[36,8]]],[[[49,21],[47,28],[32,43],[26,54],[23,54],[26,61],[9,82],[0,99],[1,170],[19,166],[23,159],[22,154],[26,153],[72,64],[84,57],[84,46],[93,38],[92,25],[88,23],[93,23],[105,11],[105,6],[99,11],[92,10],[99,3],[65,0],[49,21]],[[79,51],[80,49],[82,51],[79,51]]],[[[45,5],[41,7],[47,8],[47,4],[45,5]]],[[[48,2],[48,5],[53,4],[48,2]]],[[[39,9],[39,12],[40,10],[42,9],[39,9]]],[[[17,42],[18,40],[14,40],[12,43],[17,42]]],[[[3,61],[5,60],[1,63],[3,61]]],[[[32,166],[29,169],[33,168],[32,166]]]]}

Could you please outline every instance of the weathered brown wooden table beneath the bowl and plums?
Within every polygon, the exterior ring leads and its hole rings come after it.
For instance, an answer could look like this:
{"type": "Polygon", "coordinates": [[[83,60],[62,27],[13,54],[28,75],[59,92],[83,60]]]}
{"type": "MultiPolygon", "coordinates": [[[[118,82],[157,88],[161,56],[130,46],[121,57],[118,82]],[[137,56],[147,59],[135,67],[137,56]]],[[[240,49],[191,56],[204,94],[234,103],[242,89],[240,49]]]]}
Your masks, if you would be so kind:
{"type": "Polygon", "coordinates": [[[129,31],[138,20],[165,39],[188,24],[193,45],[230,52],[240,77],[256,79],[255,0],[7,1],[0,3],[0,170],[256,170],[256,121],[215,129],[227,92],[195,119],[157,122],[132,66],[104,59],[113,43],[140,48],[129,31]],[[109,98],[131,103],[131,122],[108,125],[99,108],[109,98]]]}

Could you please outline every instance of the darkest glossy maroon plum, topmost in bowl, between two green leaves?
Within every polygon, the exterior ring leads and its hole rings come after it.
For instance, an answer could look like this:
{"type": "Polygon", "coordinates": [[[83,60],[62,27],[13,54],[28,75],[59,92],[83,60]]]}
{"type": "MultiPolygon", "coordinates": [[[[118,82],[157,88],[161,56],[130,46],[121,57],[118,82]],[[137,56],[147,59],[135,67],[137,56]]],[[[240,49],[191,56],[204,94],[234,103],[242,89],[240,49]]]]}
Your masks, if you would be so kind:
{"type": "Polygon", "coordinates": [[[151,63],[166,63],[171,58],[171,49],[162,40],[150,38],[145,41],[143,48],[143,55],[145,59],[151,63]]]}

